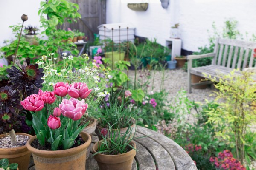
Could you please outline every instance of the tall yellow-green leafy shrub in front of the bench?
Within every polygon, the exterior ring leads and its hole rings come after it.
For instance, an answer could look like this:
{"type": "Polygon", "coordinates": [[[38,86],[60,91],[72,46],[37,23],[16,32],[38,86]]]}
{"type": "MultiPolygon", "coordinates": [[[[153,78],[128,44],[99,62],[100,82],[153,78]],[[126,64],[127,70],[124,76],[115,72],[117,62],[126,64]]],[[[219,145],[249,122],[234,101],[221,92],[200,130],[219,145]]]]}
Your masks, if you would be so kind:
{"type": "MultiPolygon", "coordinates": [[[[256,84],[251,79],[253,73],[242,71],[239,75],[236,71],[223,75],[215,85],[218,89],[215,91],[215,101],[218,102],[219,107],[209,111],[207,122],[214,124],[217,136],[235,143],[236,158],[243,162],[245,135],[249,130],[248,126],[256,122],[256,84]],[[220,125],[225,125],[225,129],[218,130],[220,125]],[[231,136],[235,136],[235,141],[231,136]]],[[[216,81],[210,76],[209,79],[216,81]]]]}

